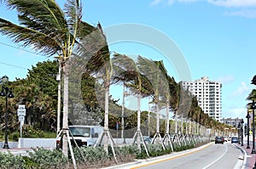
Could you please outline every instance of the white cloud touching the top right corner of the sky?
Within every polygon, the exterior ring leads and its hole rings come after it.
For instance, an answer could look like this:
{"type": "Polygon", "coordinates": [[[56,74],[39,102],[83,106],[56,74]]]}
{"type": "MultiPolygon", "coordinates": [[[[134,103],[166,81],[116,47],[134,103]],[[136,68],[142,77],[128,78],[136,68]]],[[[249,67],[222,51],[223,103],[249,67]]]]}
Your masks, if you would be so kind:
{"type": "Polygon", "coordinates": [[[208,3],[212,3],[218,6],[224,7],[256,7],[255,0],[207,0],[208,3]]]}

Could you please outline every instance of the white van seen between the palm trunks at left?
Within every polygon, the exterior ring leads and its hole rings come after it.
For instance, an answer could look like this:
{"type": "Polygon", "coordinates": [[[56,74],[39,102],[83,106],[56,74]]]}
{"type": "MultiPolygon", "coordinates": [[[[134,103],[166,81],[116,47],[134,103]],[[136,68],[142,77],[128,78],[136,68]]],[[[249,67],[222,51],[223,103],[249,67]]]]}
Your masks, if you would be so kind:
{"type": "MultiPolygon", "coordinates": [[[[103,127],[99,126],[84,126],[84,125],[76,125],[76,126],[69,126],[69,131],[72,133],[70,135],[70,141],[72,145],[74,144],[73,139],[79,145],[82,146],[93,146],[96,144],[97,139],[101,136],[103,132],[103,127]]],[[[61,147],[60,145],[61,139],[57,140],[57,147],[61,147]]]]}

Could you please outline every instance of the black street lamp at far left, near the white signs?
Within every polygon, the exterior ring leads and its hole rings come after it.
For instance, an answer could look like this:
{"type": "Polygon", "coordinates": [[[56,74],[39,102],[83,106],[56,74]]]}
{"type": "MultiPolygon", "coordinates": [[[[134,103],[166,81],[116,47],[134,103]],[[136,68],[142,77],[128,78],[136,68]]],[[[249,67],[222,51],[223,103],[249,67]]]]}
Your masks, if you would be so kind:
{"type": "Polygon", "coordinates": [[[14,94],[12,93],[12,90],[9,87],[2,87],[2,92],[0,93],[0,96],[5,97],[5,141],[3,144],[3,149],[9,149],[8,145],[8,133],[7,133],[7,126],[8,126],[8,113],[7,113],[7,108],[8,108],[8,98],[14,98],[14,94]],[[5,91],[5,93],[4,93],[5,91]]]}

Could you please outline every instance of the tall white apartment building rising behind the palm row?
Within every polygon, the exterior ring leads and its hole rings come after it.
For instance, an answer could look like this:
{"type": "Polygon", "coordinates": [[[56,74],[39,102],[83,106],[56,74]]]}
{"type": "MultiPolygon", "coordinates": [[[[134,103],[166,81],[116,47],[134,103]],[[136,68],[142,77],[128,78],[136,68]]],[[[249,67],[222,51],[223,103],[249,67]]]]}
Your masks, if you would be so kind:
{"type": "Polygon", "coordinates": [[[196,96],[201,109],[215,119],[220,121],[222,117],[222,100],[220,82],[209,81],[207,76],[201,77],[195,82],[182,82],[183,88],[189,90],[196,96]]]}

